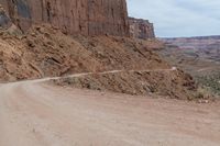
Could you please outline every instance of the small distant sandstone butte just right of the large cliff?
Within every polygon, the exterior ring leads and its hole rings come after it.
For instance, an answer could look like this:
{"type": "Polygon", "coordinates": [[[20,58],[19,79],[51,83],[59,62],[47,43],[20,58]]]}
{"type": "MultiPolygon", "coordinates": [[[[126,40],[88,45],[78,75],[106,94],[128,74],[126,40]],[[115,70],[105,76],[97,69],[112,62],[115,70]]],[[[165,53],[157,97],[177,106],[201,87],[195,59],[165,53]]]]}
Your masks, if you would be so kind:
{"type": "Polygon", "coordinates": [[[147,20],[129,18],[130,35],[138,38],[154,38],[154,25],[147,20]]]}

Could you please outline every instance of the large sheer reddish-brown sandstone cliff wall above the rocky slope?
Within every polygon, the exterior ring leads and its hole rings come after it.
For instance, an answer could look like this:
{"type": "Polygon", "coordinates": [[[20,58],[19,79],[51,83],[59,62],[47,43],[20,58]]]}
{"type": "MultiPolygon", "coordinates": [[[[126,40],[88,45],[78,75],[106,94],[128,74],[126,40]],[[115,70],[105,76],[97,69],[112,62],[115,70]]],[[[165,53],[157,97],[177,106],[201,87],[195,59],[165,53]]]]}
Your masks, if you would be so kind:
{"type": "Polygon", "coordinates": [[[129,36],[125,0],[0,0],[0,4],[24,32],[47,22],[68,34],[129,36]]]}

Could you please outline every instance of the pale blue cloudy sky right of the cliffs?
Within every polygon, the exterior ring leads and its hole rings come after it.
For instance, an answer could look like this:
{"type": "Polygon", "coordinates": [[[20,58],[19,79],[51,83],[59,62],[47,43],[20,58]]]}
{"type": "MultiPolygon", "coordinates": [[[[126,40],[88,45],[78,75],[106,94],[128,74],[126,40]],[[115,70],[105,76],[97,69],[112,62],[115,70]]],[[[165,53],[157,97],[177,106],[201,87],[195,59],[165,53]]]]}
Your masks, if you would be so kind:
{"type": "Polygon", "coordinates": [[[220,0],[127,0],[129,15],[154,23],[160,37],[220,35],[220,0]]]}

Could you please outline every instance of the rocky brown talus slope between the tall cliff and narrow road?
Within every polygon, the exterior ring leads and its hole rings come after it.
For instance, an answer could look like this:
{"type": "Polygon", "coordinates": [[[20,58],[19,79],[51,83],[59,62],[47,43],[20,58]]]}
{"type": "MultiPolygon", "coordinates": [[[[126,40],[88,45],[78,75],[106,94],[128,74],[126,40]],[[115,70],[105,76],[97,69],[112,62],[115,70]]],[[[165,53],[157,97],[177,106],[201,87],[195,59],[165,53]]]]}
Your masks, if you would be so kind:
{"type": "Polygon", "coordinates": [[[34,26],[24,35],[3,31],[0,42],[1,74],[7,80],[110,69],[169,68],[152,54],[145,42],[111,36],[70,37],[50,25],[34,26]]]}

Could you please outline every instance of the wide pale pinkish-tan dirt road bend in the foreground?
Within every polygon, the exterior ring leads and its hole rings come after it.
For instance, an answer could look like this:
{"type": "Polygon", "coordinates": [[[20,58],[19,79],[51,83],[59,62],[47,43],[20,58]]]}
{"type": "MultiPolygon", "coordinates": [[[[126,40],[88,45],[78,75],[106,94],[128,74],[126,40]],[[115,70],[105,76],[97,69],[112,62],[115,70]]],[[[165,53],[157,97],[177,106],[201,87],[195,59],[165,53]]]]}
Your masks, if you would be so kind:
{"type": "MultiPolygon", "coordinates": [[[[45,79],[43,79],[45,80],[45,79]]],[[[220,104],[0,85],[0,146],[219,146],[220,104]]]]}

